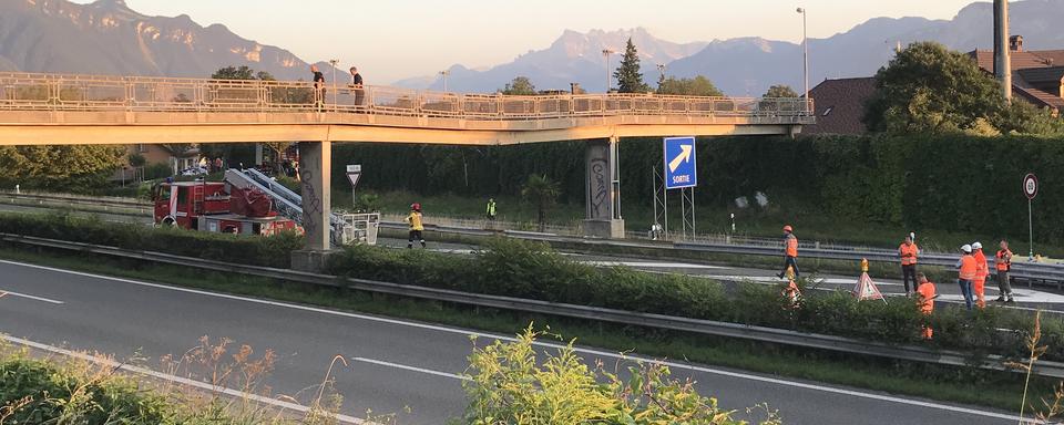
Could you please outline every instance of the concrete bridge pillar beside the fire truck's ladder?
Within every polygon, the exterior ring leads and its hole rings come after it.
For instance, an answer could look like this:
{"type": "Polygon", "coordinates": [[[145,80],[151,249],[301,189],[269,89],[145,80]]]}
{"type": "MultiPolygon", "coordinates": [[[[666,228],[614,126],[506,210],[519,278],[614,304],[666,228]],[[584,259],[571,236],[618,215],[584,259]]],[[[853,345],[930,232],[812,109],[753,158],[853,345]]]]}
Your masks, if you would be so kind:
{"type": "Polygon", "coordinates": [[[331,142],[299,143],[299,179],[303,183],[303,230],[307,235],[306,249],[327,251],[331,225],[329,217],[332,177],[331,142]]]}

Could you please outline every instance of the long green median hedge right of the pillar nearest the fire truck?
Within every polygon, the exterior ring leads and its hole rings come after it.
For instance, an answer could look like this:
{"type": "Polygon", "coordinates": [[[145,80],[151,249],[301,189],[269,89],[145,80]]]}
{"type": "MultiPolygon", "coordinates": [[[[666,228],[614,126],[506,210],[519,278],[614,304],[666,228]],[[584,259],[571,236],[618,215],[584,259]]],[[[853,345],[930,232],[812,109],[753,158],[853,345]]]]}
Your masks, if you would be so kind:
{"type": "MultiPolygon", "coordinates": [[[[593,305],[751,325],[791,329],[899,344],[930,344],[973,355],[1022,355],[1031,314],[989,308],[965,311],[940,303],[928,318],[902,298],[857,301],[846,291],[818,291],[801,282],[804,298],[790,307],[781,287],[596,268],[557,255],[545,245],[497,239],[472,257],[423,250],[350,247],[329,263],[334,274],[475,293],[593,305]],[[927,323],[934,340],[920,339],[927,323]],[[1002,330],[1014,330],[1012,332],[1002,330]]],[[[942,284],[949,284],[943,282],[942,284]]],[[[1064,319],[1044,318],[1046,360],[1064,360],[1064,319]]]]}

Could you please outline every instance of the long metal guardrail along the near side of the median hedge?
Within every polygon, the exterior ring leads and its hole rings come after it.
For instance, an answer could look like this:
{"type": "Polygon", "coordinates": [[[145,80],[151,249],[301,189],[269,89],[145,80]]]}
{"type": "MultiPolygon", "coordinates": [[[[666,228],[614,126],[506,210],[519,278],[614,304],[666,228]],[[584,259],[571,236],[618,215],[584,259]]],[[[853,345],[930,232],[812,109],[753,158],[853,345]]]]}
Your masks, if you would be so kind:
{"type": "MultiPolygon", "coordinates": [[[[434,301],[446,301],[468,305],[479,305],[505,310],[515,310],[542,314],[551,314],[575,319],[586,319],[603,322],[632,324],[656,329],[667,329],[684,332],[694,332],[707,335],[727,336],[753,341],[763,341],[777,344],[811,348],[845,353],[872,355],[888,359],[914,360],[925,363],[944,365],[970,365],[988,370],[1011,370],[1005,366],[1006,359],[999,355],[975,357],[955,351],[939,351],[921,346],[897,345],[871,341],[861,341],[842,336],[804,333],[790,330],[751,326],[737,323],[716,322],[709,320],[678,318],[663,314],[632,312],[597,307],[553,303],[540,300],[528,300],[512,297],[489,296],[482,293],[460,292],[446,289],[416,287],[365,279],[350,279],[336,276],[307,273],[286,269],[276,269],[257,266],[234,265],[223,261],[204,260],[174,256],[162,252],[125,250],[90,243],[70,242],[63,240],[25,237],[20,235],[0,234],[0,240],[9,243],[23,243],[38,247],[57,248],[136,259],[158,263],[194,267],[205,270],[243,273],[260,278],[279,279],[301,283],[320,284],[336,288],[347,288],[359,291],[387,293],[399,297],[419,298],[434,301]]],[[[1037,362],[1034,372],[1042,376],[1064,377],[1064,363],[1037,362]]]]}

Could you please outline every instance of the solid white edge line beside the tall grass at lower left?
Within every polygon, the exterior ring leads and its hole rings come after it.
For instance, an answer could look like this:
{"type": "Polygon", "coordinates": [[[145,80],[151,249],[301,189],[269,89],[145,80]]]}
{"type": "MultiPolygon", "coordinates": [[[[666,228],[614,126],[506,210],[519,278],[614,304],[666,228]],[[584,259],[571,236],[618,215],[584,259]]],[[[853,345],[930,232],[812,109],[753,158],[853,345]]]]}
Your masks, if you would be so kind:
{"type": "MultiPolygon", "coordinates": [[[[150,370],[150,369],[133,366],[133,365],[129,365],[129,364],[124,364],[124,363],[119,363],[119,362],[115,362],[115,361],[113,361],[113,360],[102,359],[102,357],[98,357],[98,356],[94,356],[94,355],[89,355],[89,354],[85,354],[85,353],[79,353],[79,352],[71,351],[71,350],[60,349],[60,348],[58,348],[58,346],[52,346],[52,345],[48,345],[48,344],[42,344],[42,343],[40,343],[40,342],[33,342],[33,341],[30,341],[30,340],[23,340],[23,339],[21,339],[21,338],[14,338],[14,336],[9,336],[9,335],[0,334],[0,339],[2,339],[2,340],[4,340],[4,341],[8,341],[8,342],[10,342],[10,343],[13,343],[13,344],[19,344],[19,345],[22,345],[22,346],[29,346],[29,348],[31,348],[31,349],[37,349],[37,350],[41,350],[41,351],[47,351],[47,352],[53,353],[53,354],[60,354],[60,355],[64,355],[64,356],[68,356],[68,357],[80,359],[80,360],[83,360],[83,361],[92,362],[92,363],[100,364],[100,365],[104,365],[104,366],[108,366],[108,367],[117,367],[119,370],[122,370],[122,371],[125,371],[125,372],[136,373],[136,374],[139,374],[139,375],[146,375],[146,376],[151,376],[151,377],[158,379],[158,380],[166,380],[166,381],[170,381],[170,382],[178,383],[178,384],[186,385],[186,386],[192,386],[192,387],[200,388],[200,390],[204,390],[204,391],[211,391],[211,392],[215,392],[215,393],[222,393],[222,394],[225,394],[225,395],[228,395],[228,396],[232,396],[232,397],[247,398],[247,400],[250,400],[250,401],[254,401],[254,402],[257,402],[257,403],[265,403],[265,404],[269,404],[269,405],[275,406],[275,407],[280,407],[280,408],[285,408],[285,410],[291,410],[291,411],[296,411],[296,412],[299,412],[299,413],[303,413],[303,414],[306,414],[307,412],[310,411],[310,407],[304,406],[304,405],[301,405],[301,404],[285,402],[285,401],[282,401],[282,400],[275,400],[275,398],[269,398],[269,397],[264,397],[264,396],[257,395],[257,394],[248,394],[248,393],[244,393],[244,392],[241,392],[241,391],[237,391],[237,390],[233,390],[233,388],[228,388],[228,387],[225,387],[225,386],[211,385],[211,384],[207,384],[207,383],[205,383],[205,382],[200,382],[200,381],[195,381],[195,380],[190,380],[190,379],[187,379],[187,377],[181,377],[181,376],[171,375],[171,374],[167,374],[167,373],[155,372],[155,371],[150,370]]],[[[340,422],[345,422],[345,423],[348,423],[348,424],[375,425],[372,422],[368,422],[368,421],[365,421],[365,419],[359,419],[359,418],[354,417],[354,416],[335,415],[334,417],[336,417],[336,418],[337,418],[338,421],[340,421],[340,422]]]]}

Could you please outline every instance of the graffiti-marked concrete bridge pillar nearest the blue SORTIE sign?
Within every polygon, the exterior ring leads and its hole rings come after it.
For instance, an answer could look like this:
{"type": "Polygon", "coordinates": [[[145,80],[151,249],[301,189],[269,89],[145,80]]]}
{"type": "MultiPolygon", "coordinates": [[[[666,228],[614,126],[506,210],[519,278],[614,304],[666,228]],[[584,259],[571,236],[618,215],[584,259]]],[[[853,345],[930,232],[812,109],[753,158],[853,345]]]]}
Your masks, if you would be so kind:
{"type": "Polygon", "coordinates": [[[587,219],[584,235],[600,238],[624,238],[621,217],[621,174],[616,136],[587,142],[586,194],[587,219]]]}

